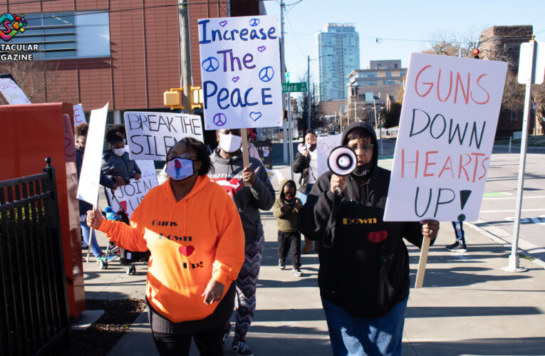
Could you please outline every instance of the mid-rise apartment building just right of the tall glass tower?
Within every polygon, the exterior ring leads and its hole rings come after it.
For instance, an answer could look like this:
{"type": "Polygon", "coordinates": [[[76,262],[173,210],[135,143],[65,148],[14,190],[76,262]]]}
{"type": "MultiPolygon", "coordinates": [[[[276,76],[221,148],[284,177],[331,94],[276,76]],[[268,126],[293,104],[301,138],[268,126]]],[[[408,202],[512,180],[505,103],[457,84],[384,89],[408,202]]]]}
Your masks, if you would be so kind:
{"type": "MultiPolygon", "coordinates": [[[[347,112],[349,117],[373,122],[375,105],[382,108],[398,98],[407,68],[402,68],[401,61],[369,61],[369,69],[352,70],[346,78],[347,112]]],[[[378,109],[377,109],[378,110],[378,109]]]]}

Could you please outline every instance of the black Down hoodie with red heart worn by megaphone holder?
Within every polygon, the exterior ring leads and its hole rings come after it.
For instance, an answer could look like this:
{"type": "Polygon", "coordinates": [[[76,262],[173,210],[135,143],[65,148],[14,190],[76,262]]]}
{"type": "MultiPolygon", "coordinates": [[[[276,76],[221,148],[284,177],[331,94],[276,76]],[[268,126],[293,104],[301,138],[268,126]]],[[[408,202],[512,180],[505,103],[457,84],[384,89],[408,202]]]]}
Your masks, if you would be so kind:
{"type": "MultiPolygon", "coordinates": [[[[322,298],[360,318],[386,315],[409,295],[409,256],[403,238],[422,245],[419,222],[383,221],[390,171],[378,167],[378,145],[372,127],[373,169],[368,182],[349,176],[341,196],[331,193],[331,171],[313,185],[298,215],[298,227],[308,239],[320,241],[318,286],[322,298]]],[[[431,241],[433,243],[433,240],[431,241]]]]}

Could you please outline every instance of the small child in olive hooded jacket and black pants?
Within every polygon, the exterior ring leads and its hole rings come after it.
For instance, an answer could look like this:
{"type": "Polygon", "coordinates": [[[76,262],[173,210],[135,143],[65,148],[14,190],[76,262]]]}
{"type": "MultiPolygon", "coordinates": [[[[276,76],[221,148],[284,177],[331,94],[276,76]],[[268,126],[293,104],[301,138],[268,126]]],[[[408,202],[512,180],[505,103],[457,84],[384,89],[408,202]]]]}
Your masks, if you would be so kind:
{"type": "Polygon", "coordinates": [[[295,196],[296,186],[291,179],[280,182],[279,197],[273,205],[273,214],[278,226],[278,268],[286,268],[286,257],[291,252],[294,263],[292,273],[301,277],[301,233],[297,230],[297,213],[301,209],[301,199],[295,196]]]}

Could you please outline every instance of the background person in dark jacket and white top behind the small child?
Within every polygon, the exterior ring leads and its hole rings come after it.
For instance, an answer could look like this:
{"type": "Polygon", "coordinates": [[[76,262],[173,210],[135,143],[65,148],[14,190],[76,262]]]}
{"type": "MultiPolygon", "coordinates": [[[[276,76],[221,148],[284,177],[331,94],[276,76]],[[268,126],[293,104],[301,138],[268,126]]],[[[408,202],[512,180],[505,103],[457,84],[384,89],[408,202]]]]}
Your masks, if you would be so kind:
{"type": "MultiPolygon", "coordinates": [[[[301,173],[299,177],[299,192],[305,196],[311,192],[311,189],[318,179],[318,152],[316,151],[316,134],[313,130],[306,130],[305,143],[310,145],[305,152],[297,152],[294,158],[294,163],[291,165],[291,169],[294,173],[301,173]]],[[[305,240],[305,246],[303,246],[303,253],[310,253],[312,250],[313,242],[303,236],[305,240]]],[[[315,250],[318,249],[318,245],[315,246],[315,250]]]]}

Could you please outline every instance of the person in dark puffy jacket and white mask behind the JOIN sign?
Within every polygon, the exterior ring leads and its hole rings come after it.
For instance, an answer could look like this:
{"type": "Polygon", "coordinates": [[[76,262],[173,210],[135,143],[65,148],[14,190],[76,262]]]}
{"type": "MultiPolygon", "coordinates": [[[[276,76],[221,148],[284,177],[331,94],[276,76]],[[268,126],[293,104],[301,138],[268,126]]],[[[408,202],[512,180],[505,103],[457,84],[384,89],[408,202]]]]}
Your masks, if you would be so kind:
{"type": "Polygon", "coordinates": [[[125,151],[123,137],[115,130],[106,132],[106,141],[110,148],[105,150],[100,163],[100,171],[118,184],[118,187],[129,183],[131,178],[140,179],[142,172],[134,159],[125,151]]]}

